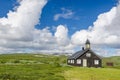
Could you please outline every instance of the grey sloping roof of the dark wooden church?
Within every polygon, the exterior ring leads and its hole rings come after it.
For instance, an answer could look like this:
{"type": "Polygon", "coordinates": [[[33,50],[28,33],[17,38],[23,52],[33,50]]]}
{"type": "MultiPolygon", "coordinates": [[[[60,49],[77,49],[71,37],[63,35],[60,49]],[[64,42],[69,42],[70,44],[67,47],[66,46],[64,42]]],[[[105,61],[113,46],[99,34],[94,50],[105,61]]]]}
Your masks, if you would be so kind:
{"type": "MultiPolygon", "coordinates": [[[[86,52],[92,52],[93,54],[95,54],[91,49],[85,49],[85,50],[81,50],[76,52],[75,54],[73,54],[72,56],[70,56],[68,59],[77,59],[78,57],[80,57],[81,55],[83,55],[86,52]]],[[[97,57],[101,58],[100,56],[98,56],[97,54],[95,54],[97,57]]]]}

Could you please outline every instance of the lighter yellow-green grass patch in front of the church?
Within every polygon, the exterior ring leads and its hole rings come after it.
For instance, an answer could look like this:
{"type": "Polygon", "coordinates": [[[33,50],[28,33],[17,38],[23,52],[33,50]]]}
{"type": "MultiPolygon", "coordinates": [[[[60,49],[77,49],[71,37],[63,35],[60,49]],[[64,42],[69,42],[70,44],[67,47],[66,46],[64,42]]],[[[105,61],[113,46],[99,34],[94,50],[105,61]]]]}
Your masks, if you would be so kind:
{"type": "Polygon", "coordinates": [[[66,80],[120,80],[120,70],[73,67],[64,72],[64,77],[66,80]]]}

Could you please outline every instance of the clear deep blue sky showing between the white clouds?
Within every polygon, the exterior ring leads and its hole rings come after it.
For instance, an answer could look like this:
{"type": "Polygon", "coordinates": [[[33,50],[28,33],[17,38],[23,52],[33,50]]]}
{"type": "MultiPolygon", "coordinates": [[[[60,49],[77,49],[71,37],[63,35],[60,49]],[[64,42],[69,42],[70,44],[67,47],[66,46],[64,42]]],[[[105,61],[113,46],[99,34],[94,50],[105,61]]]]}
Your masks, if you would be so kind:
{"type": "MultiPolygon", "coordinates": [[[[87,29],[93,25],[99,14],[109,11],[116,4],[117,0],[48,0],[43,8],[40,25],[37,25],[36,28],[43,29],[48,26],[54,32],[53,26],[63,24],[68,26],[69,35],[72,35],[77,30],[87,29]],[[55,21],[54,15],[63,13],[61,8],[72,11],[73,17],[59,18],[55,21]]],[[[17,5],[16,0],[1,0],[0,17],[6,16],[15,5],[17,5]]]]}

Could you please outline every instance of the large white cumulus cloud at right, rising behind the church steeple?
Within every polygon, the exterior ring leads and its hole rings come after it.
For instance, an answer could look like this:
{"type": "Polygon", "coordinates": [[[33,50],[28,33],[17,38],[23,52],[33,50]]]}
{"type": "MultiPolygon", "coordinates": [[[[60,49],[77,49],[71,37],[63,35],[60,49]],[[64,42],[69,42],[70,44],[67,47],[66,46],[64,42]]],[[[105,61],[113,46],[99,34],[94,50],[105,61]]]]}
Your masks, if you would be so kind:
{"type": "MultiPolygon", "coordinates": [[[[109,12],[102,13],[87,30],[80,30],[72,35],[73,44],[83,44],[89,38],[94,44],[118,47],[120,45],[120,5],[109,12]]],[[[119,46],[120,47],[120,46],[119,46]]]]}

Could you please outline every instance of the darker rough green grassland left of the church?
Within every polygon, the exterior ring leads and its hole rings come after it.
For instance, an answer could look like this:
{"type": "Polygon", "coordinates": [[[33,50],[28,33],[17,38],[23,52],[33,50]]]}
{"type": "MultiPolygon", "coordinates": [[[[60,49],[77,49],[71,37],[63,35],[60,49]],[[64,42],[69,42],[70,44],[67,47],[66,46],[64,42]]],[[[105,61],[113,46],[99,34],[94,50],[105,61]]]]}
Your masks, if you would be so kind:
{"type": "Polygon", "coordinates": [[[42,54],[0,55],[0,80],[64,80],[60,73],[65,69],[61,66],[65,63],[65,56],[60,57],[42,54]]]}

